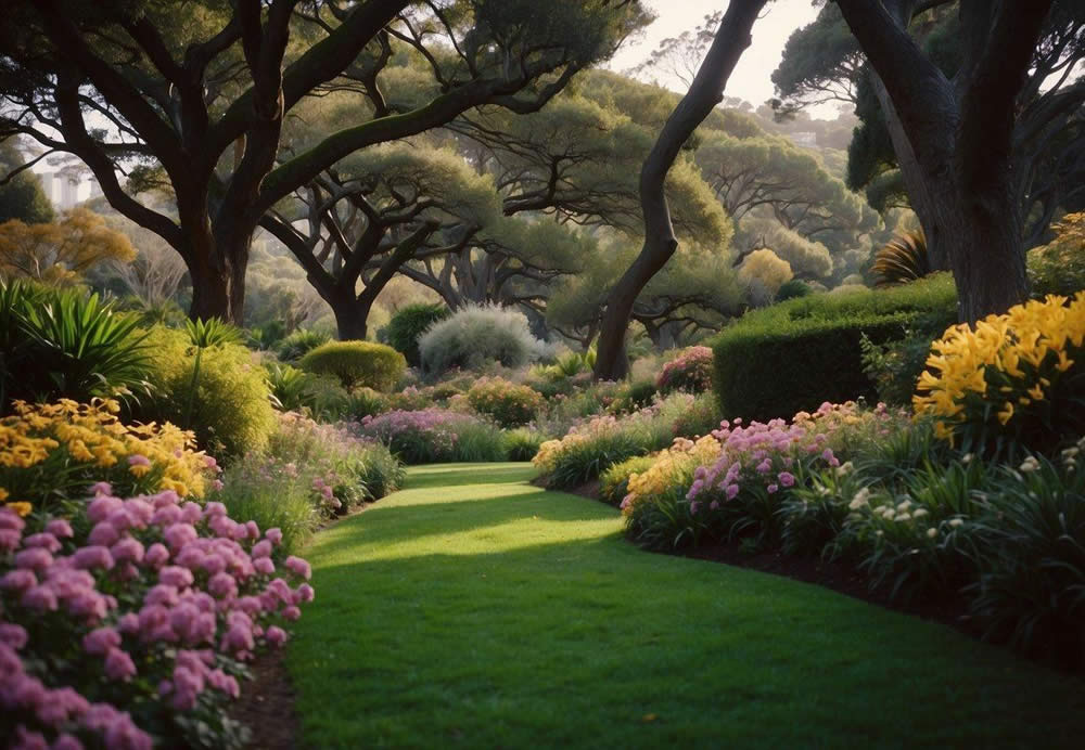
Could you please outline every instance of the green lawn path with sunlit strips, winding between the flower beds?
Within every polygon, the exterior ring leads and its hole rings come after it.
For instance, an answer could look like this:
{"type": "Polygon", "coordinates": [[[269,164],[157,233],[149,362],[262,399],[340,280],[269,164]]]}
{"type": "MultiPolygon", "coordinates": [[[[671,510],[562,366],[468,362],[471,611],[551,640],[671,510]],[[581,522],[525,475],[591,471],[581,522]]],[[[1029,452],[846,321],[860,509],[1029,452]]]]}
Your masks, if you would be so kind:
{"type": "Polygon", "coordinates": [[[526,464],[427,466],[307,549],[316,748],[1080,747],[1082,681],[754,571],[641,552],[526,464]]]}

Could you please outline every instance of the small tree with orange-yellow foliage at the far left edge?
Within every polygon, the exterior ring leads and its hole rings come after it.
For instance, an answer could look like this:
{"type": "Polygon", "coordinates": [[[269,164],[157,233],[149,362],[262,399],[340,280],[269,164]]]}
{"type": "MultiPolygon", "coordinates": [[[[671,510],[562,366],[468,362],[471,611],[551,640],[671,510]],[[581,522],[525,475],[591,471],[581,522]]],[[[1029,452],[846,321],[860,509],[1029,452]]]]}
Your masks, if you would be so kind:
{"type": "Polygon", "coordinates": [[[100,263],[135,258],[128,237],[85,208],[69,211],[56,223],[25,224],[12,219],[0,224],[0,273],[4,275],[66,285],[77,283],[100,263]]]}

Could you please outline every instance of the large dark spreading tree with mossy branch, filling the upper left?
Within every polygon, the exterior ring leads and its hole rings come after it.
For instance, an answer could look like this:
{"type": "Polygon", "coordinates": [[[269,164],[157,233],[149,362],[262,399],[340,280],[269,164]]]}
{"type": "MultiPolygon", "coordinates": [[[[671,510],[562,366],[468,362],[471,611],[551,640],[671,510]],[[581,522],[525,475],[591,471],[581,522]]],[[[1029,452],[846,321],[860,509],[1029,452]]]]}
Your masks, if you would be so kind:
{"type": "Polygon", "coordinates": [[[184,258],[193,316],[238,322],[253,233],[276,203],[355,151],[472,107],[537,109],[646,21],[636,0],[9,7],[0,138],[76,154],[114,208],[184,258]],[[416,75],[393,88],[384,74],[405,57],[416,75]],[[355,121],[284,153],[284,116],[329,92],[354,96],[355,121]],[[171,190],[176,220],[137,199],[150,184],[171,190]]]}

